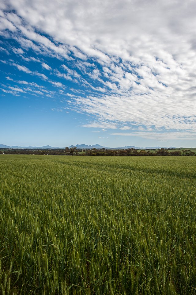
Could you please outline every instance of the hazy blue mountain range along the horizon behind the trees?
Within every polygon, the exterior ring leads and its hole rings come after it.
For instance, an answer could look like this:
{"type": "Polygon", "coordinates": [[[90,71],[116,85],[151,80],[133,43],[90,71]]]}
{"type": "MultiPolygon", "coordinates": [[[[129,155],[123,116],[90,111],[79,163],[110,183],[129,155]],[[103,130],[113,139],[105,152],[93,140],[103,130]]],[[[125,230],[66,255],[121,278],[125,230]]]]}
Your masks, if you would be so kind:
{"type": "MultiPolygon", "coordinates": [[[[93,145],[87,145],[87,144],[76,144],[76,145],[70,145],[69,148],[74,148],[76,147],[77,149],[91,149],[91,148],[96,148],[96,149],[100,149],[100,148],[105,148],[105,149],[113,149],[113,150],[120,150],[120,149],[128,149],[128,148],[135,148],[135,149],[155,149],[155,148],[161,148],[161,147],[146,147],[146,148],[138,148],[138,147],[134,147],[133,145],[132,146],[126,146],[126,147],[120,147],[120,148],[107,148],[107,147],[102,147],[100,144],[93,144],[93,145]]],[[[52,149],[64,149],[64,148],[54,148],[54,147],[51,147],[50,145],[44,145],[43,147],[18,147],[16,145],[10,147],[8,145],[4,145],[4,144],[0,144],[0,148],[25,148],[25,149],[40,149],[40,150],[52,150],[52,149]]],[[[166,148],[166,147],[162,147],[162,148],[166,148]]],[[[169,147],[169,148],[175,148],[175,147],[169,147]]]]}

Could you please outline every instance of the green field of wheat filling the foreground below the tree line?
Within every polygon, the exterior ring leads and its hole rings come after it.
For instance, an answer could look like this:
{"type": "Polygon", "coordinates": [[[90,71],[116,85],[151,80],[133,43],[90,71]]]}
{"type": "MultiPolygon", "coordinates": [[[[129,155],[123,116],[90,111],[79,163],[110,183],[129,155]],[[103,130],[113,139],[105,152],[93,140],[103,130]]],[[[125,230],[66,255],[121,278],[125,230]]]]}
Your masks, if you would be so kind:
{"type": "Polygon", "coordinates": [[[0,294],[196,294],[195,167],[0,155],[0,294]]]}

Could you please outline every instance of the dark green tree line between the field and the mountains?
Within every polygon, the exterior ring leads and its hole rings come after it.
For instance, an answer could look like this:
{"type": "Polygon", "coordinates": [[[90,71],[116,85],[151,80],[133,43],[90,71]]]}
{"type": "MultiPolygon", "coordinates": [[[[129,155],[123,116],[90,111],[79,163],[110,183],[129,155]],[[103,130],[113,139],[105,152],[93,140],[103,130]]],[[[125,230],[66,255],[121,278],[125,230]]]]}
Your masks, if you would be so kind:
{"type": "Polygon", "coordinates": [[[2,149],[0,154],[8,155],[80,155],[80,156],[195,156],[195,152],[190,149],[168,151],[166,148],[160,149],[145,149],[138,150],[135,148],[128,149],[51,149],[51,150],[38,150],[38,149],[2,149]]]}

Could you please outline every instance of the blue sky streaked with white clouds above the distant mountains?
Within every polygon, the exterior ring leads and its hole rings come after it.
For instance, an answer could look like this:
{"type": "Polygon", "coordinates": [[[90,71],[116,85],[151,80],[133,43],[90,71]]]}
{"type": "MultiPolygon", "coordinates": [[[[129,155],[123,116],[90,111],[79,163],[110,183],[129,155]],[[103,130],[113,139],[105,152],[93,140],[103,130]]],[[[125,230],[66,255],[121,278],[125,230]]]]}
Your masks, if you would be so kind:
{"type": "Polygon", "coordinates": [[[194,0],[1,0],[0,144],[196,147],[194,0]]]}

